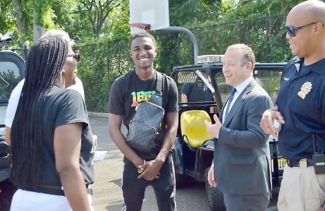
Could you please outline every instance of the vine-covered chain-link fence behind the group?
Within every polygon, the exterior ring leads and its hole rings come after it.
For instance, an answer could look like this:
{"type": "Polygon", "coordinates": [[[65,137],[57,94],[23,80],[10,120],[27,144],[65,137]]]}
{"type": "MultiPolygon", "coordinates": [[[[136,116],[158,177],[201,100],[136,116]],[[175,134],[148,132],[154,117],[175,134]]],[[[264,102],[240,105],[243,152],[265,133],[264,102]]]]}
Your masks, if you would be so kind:
{"type": "MultiPolygon", "coordinates": [[[[190,30],[199,42],[200,55],[223,54],[227,46],[244,43],[253,49],[257,62],[286,62],[293,56],[285,38],[285,16],[284,14],[202,25],[190,30]]],[[[193,63],[193,46],[186,35],[163,31],[153,34],[158,44],[154,65],[158,71],[170,75],[174,66],[193,63]]],[[[129,55],[129,38],[107,38],[78,47],[82,54],[78,73],[84,84],[87,108],[104,112],[112,83],[134,67],[129,55]]],[[[194,83],[195,77],[189,81],[194,83]]]]}

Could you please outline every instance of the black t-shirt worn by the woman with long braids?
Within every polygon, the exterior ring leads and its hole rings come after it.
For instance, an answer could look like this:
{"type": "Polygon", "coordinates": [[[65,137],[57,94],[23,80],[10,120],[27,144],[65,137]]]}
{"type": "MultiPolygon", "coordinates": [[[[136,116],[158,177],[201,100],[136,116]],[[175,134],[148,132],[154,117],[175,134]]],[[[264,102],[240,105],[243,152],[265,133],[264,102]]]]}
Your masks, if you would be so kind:
{"type": "Polygon", "coordinates": [[[94,146],[86,106],[76,90],[53,86],[44,102],[42,132],[45,156],[41,171],[41,185],[61,187],[60,176],[55,167],[54,130],[70,123],[82,123],[80,169],[85,184],[94,183],[94,146]]]}

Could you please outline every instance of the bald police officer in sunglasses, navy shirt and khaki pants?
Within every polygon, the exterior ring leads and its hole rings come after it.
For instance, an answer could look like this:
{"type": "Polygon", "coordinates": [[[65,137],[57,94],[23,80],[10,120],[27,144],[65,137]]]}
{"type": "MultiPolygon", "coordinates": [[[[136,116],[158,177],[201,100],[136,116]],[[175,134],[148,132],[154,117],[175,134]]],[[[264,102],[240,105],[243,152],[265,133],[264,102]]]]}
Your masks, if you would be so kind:
{"type": "Polygon", "coordinates": [[[284,68],[276,109],[266,110],[264,132],[277,137],[273,120],[283,125],[279,150],[287,159],[278,199],[279,211],[324,211],[325,174],[316,174],[313,136],[325,151],[325,3],[307,0],[287,15],[290,49],[297,58],[284,68]]]}

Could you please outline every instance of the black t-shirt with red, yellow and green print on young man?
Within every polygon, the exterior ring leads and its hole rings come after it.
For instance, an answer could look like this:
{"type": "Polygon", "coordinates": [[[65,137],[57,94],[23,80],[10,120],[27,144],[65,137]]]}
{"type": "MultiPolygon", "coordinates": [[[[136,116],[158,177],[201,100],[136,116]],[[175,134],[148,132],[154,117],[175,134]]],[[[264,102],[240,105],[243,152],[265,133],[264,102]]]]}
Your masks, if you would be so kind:
{"type": "MultiPolygon", "coordinates": [[[[152,94],[156,92],[157,74],[143,81],[135,71],[130,71],[115,80],[112,85],[107,111],[123,117],[123,124],[128,128],[134,115],[134,109],[141,101],[148,101],[152,94]]],[[[178,91],[172,78],[163,74],[163,108],[165,113],[178,111],[178,91]]],[[[163,117],[162,129],[155,140],[155,148],[150,152],[143,152],[133,148],[133,150],[146,160],[157,157],[163,143],[163,136],[166,130],[166,115],[163,117]]]]}

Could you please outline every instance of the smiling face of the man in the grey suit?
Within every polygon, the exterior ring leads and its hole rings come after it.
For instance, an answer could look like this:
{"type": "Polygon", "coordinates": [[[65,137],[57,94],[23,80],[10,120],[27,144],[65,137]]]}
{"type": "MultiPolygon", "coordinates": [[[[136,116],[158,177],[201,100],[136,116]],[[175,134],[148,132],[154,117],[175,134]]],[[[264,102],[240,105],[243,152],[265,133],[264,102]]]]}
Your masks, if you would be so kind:
{"type": "Polygon", "coordinates": [[[243,65],[243,51],[239,48],[229,49],[224,53],[223,58],[223,76],[226,84],[237,86],[252,73],[252,63],[243,65]]]}

